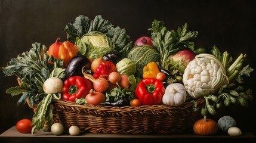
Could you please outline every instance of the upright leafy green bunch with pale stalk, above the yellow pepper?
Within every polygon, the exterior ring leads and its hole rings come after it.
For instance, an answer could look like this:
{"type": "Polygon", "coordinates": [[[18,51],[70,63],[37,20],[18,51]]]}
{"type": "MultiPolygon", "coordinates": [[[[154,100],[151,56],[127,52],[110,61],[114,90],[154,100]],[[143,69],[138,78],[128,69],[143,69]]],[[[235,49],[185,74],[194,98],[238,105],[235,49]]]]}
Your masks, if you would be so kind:
{"type": "Polygon", "coordinates": [[[169,67],[172,65],[169,60],[170,55],[185,48],[195,51],[195,44],[190,39],[196,38],[198,32],[187,31],[187,23],[178,27],[177,32],[175,32],[174,30],[169,31],[164,26],[163,21],[154,20],[149,30],[151,31],[152,43],[160,53],[161,62],[159,66],[162,69],[171,71],[172,67],[169,67]]]}

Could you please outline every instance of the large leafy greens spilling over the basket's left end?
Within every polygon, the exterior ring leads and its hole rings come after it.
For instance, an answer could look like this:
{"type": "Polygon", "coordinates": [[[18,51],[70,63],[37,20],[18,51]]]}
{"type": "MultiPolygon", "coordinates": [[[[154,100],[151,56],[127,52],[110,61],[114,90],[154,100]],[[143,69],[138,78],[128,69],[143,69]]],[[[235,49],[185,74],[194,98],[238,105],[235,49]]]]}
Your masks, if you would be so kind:
{"type": "Polygon", "coordinates": [[[24,105],[29,100],[30,107],[36,106],[32,133],[35,129],[44,128],[45,123],[50,127],[53,122],[53,110],[50,107],[53,94],[45,94],[43,85],[49,77],[64,78],[65,69],[61,66],[63,60],[49,57],[45,45],[33,43],[30,51],[19,54],[17,58],[12,58],[6,67],[1,67],[5,76],[15,75],[20,79],[20,86],[7,89],[7,94],[22,94],[17,105],[24,105]]]}

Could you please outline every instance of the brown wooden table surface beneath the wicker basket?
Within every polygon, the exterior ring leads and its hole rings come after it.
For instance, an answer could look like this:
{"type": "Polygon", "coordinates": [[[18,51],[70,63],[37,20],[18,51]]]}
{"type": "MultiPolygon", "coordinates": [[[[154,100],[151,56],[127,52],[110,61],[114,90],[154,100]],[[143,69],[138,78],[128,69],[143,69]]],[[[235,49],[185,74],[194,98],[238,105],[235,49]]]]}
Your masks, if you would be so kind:
{"type": "Polygon", "coordinates": [[[196,134],[177,134],[177,135],[129,135],[112,133],[81,133],[79,136],[63,134],[55,136],[51,132],[37,131],[31,133],[20,133],[16,126],[6,130],[0,135],[1,142],[173,142],[173,141],[196,141],[196,142],[255,142],[255,135],[250,132],[243,132],[241,136],[229,136],[225,133],[202,136],[196,134]]]}

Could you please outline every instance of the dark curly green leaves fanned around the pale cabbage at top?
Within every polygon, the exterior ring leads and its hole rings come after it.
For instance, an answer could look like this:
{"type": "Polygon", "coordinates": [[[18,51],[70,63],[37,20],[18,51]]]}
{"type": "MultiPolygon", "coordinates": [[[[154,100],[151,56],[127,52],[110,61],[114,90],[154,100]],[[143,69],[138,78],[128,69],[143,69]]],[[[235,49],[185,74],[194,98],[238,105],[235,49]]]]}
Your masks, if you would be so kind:
{"type": "Polygon", "coordinates": [[[90,32],[101,32],[110,38],[112,51],[109,52],[119,52],[122,57],[126,57],[132,48],[132,41],[130,41],[126,30],[118,26],[115,27],[110,21],[104,20],[101,15],[95,16],[94,20],[79,15],[76,17],[75,23],[68,23],[64,30],[67,33],[67,40],[76,43],[79,47],[79,53],[82,55],[87,52],[85,44],[81,44],[82,36],[90,32]]]}

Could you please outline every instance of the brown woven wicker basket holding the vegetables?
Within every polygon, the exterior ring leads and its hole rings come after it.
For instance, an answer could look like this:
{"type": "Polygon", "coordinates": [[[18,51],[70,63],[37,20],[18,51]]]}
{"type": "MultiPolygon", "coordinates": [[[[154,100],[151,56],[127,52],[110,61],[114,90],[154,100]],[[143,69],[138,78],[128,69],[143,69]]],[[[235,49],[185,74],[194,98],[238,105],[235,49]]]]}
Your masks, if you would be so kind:
{"type": "MultiPolygon", "coordinates": [[[[199,98],[197,107],[205,100],[199,98]]],[[[78,126],[82,132],[174,134],[193,130],[193,123],[201,118],[193,101],[177,107],[168,105],[143,105],[140,107],[110,107],[79,105],[75,102],[53,100],[54,122],[63,124],[66,130],[78,126]]]]}

